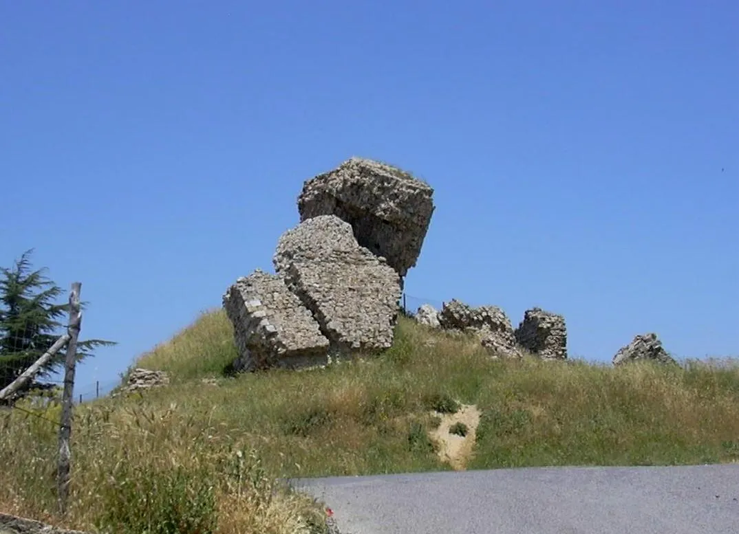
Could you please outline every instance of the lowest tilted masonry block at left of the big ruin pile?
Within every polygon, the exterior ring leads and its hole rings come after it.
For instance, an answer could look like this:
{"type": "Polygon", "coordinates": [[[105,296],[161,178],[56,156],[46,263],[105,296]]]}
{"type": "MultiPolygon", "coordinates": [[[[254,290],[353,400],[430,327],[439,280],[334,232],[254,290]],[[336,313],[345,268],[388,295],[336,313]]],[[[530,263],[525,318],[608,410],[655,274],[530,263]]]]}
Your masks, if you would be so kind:
{"type": "Polygon", "coordinates": [[[236,371],[307,366],[327,354],[318,322],[280,276],[256,270],[239,278],[223,307],[234,325],[236,371]]]}

